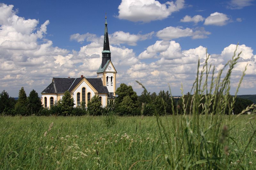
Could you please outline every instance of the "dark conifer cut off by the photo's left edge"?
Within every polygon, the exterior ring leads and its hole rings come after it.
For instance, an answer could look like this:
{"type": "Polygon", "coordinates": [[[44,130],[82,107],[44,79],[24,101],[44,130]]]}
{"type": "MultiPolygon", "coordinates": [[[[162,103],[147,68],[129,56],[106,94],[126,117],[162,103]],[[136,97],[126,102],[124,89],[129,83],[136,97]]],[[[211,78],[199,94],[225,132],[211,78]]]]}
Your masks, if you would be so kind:
{"type": "Polygon", "coordinates": [[[8,92],[3,90],[0,94],[0,113],[10,115],[12,113],[12,108],[15,105],[14,98],[10,97],[8,92]]]}

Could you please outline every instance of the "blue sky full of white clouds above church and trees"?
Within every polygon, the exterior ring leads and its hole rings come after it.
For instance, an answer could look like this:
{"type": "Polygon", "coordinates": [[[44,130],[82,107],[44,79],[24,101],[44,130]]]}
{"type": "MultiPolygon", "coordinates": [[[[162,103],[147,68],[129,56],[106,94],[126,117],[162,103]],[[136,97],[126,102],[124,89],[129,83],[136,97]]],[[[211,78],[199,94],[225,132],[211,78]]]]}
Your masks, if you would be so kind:
{"type": "Polygon", "coordinates": [[[105,13],[116,86],[172,95],[190,92],[197,63],[218,72],[242,51],[231,94],[256,94],[255,0],[0,0],[0,91],[41,92],[53,77],[96,78],[105,13]]]}

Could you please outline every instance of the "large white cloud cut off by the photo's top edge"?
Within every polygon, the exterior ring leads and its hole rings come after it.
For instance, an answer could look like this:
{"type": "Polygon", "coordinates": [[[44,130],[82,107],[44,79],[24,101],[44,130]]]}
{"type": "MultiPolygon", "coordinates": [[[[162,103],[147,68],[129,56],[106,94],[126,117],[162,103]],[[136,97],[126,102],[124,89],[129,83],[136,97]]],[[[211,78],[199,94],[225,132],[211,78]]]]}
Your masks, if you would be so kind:
{"type": "Polygon", "coordinates": [[[167,1],[165,4],[156,0],[122,0],[117,17],[133,22],[150,22],[167,18],[183,7],[184,0],[167,1]]]}

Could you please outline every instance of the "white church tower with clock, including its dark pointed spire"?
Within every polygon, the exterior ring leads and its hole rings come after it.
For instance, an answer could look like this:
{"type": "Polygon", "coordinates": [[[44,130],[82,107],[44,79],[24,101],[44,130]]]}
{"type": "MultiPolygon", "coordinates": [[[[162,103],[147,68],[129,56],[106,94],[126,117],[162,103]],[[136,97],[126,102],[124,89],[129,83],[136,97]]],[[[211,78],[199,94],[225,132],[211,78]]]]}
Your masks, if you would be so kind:
{"type": "MultiPolygon", "coordinates": [[[[105,32],[104,32],[104,42],[102,51],[102,61],[101,65],[97,71],[97,77],[101,78],[104,86],[108,88],[108,92],[113,96],[116,96],[116,69],[111,62],[111,52],[109,48],[108,41],[108,23],[107,16],[105,17],[105,32]]],[[[111,97],[110,97],[111,98],[111,97]]]]}

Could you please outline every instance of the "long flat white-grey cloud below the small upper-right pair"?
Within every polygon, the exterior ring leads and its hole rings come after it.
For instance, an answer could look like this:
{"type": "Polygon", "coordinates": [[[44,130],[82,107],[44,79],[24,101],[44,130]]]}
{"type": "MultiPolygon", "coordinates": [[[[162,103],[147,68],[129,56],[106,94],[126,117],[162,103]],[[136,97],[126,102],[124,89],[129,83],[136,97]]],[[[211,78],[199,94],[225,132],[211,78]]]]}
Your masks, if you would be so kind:
{"type": "Polygon", "coordinates": [[[211,34],[208,31],[205,31],[203,27],[191,28],[182,27],[166,27],[156,33],[156,36],[162,40],[172,40],[180,37],[191,37],[192,39],[207,38],[207,35],[211,34]]]}

